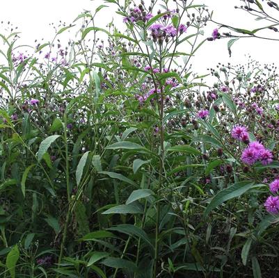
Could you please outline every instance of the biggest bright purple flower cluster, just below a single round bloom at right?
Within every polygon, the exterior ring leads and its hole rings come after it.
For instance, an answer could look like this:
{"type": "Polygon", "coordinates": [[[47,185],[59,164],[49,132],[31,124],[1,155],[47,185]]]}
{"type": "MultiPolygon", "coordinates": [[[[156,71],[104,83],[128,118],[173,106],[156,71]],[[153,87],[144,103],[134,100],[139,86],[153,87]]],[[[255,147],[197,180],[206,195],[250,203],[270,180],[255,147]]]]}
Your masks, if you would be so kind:
{"type": "Polygon", "coordinates": [[[253,165],[256,161],[261,161],[262,165],[268,165],[272,159],[272,152],[260,142],[251,142],[241,154],[241,160],[248,165],[253,165]]]}

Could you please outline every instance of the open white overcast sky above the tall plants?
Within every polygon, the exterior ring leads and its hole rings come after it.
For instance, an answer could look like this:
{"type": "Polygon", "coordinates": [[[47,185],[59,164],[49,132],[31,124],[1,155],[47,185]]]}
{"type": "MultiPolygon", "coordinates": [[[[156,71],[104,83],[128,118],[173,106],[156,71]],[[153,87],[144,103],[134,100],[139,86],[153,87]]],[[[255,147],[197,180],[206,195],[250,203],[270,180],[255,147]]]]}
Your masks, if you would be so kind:
{"type": "MultiPolygon", "coordinates": [[[[83,9],[95,10],[97,6],[104,3],[102,0],[9,0],[2,2],[0,21],[10,21],[14,26],[18,26],[19,31],[22,32],[22,44],[31,45],[35,45],[35,39],[45,38],[47,41],[53,38],[54,30],[49,26],[50,23],[53,22],[57,26],[61,20],[70,24],[83,9]]],[[[210,10],[214,10],[214,19],[217,22],[246,29],[254,29],[263,24],[263,22],[256,22],[253,17],[248,16],[243,11],[235,10],[234,6],[241,4],[239,0],[197,0],[196,3],[205,3],[210,10]]],[[[96,25],[104,28],[107,23],[111,22],[112,17],[115,17],[116,25],[122,21],[120,15],[115,16],[112,8],[105,8],[97,17],[96,25]]],[[[206,31],[206,37],[211,35],[214,27],[210,26],[206,31]]],[[[268,32],[271,35],[276,35],[273,31],[268,32]]],[[[279,65],[279,42],[254,38],[239,40],[232,48],[232,58],[228,56],[227,42],[228,40],[207,42],[198,51],[198,56],[192,60],[195,64],[194,69],[203,74],[207,67],[214,67],[218,62],[246,63],[245,54],[250,54],[260,63],[279,65]]]]}

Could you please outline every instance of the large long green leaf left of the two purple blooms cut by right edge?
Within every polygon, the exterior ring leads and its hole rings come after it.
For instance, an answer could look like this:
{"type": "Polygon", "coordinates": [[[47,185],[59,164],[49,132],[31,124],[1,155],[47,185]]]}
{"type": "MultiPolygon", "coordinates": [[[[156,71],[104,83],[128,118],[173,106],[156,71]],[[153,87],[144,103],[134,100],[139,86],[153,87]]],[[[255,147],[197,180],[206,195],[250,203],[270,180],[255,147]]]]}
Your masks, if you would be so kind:
{"type": "Polygon", "coordinates": [[[225,188],[219,191],[209,203],[207,208],[205,209],[204,216],[206,217],[214,208],[220,206],[223,202],[228,201],[229,199],[239,197],[240,195],[246,193],[254,183],[250,181],[240,181],[238,183],[234,183],[229,188],[225,188]]]}

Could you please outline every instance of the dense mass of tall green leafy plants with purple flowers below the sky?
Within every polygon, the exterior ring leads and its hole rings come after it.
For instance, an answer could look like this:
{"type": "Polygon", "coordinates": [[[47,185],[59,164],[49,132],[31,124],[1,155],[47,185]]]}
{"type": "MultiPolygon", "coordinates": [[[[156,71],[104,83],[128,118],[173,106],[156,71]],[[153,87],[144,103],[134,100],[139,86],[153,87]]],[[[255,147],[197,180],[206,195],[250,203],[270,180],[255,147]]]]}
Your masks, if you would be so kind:
{"type": "Polygon", "coordinates": [[[198,76],[232,37],[205,6],[105,2],[125,33],[102,5],[33,53],[1,35],[0,276],[277,277],[275,65],[198,76]]]}

